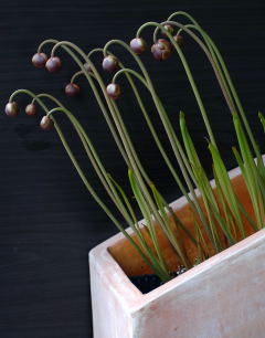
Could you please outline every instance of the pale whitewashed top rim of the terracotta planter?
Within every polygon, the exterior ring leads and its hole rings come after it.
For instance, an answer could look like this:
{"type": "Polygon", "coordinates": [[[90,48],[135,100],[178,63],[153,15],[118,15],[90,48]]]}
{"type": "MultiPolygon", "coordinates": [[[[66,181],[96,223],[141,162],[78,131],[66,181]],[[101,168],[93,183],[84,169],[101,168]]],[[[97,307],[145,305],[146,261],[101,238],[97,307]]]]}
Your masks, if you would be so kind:
{"type": "MultiPolygon", "coordinates": [[[[265,157],[263,156],[263,159],[265,157]]],[[[236,178],[241,175],[240,168],[234,168],[229,171],[231,179],[236,178]]],[[[210,181],[211,186],[214,188],[214,180],[210,181]]],[[[200,196],[199,191],[195,190],[197,194],[200,196]]],[[[176,201],[170,203],[170,207],[174,211],[187,204],[186,197],[180,197],[176,201]]],[[[142,221],[140,221],[142,222],[142,221]]],[[[129,234],[132,233],[130,228],[126,229],[129,234]]],[[[137,311],[139,308],[145,307],[147,304],[153,299],[158,299],[167,293],[170,293],[173,288],[180,287],[186,283],[192,283],[194,277],[200,277],[200,275],[208,273],[213,268],[218,270],[221,266],[227,264],[233,264],[239,256],[248,252],[250,250],[255,250],[265,240],[265,229],[257,231],[256,233],[247,236],[246,239],[235,243],[234,245],[223,250],[222,252],[213,255],[212,257],[205,260],[204,262],[193,266],[184,274],[162,284],[156,289],[142,294],[125,274],[123,268],[118,265],[115,258],[108,252],[108,247],[115,245],[117,242],[124,240],[123,233],[118,233],[99,245],[95,246],[89,252],[89,262],[94,265],[94,268],[100,271],[100,278],[105,278],[113,292],[117,294],[121,303],[126,306],[129,305],[131,311],[137,311]],[[105,266],[105,271],[102,268],[105,266]],[[115,287],[114,287],[115,286],[115,287]]]]}

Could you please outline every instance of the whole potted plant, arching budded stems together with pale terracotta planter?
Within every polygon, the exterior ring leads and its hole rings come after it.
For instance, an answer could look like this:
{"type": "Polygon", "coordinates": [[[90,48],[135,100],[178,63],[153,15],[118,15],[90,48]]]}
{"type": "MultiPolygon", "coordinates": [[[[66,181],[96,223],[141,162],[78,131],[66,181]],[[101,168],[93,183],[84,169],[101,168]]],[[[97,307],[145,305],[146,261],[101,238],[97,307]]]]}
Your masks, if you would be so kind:
{"type": "MultiPolygon", "coordinates": [[[[265,271],[261,263],[265,246],[265,167],[225,63],[212,39],[191,15],[180,11],[161,23],[142,24],[130,44],[112,40],[104,49],[89,53],[67,41],[46,40],[33,55],[33,64],[56,72],[62,66],[61,59],[55,55],[60,47],[80,67],[65,87],[65,93],[68,96],[77,95],[77,76],[86,77],[128,168],[128,181],[144,218],[137,221],[130,199],[106,171],[81,123],[61,102],[52,95],[35,95],[28,89],[15,91],[10,96],[6,106],[9,116],[18,115],[14,98],[20,93],[32,97],[25,108],[28,115],[35,115],[38,106],[41,106],[45,113],[41,120],[42,129],[55,127],[87,190],[120,231],[89,254],[95,337],[261,337],[265,328],[262,316],[265,300],[261,297],[265,271]],[[182,24],[179,18],[188,19],[189,23],[182,24]],[[208,134],[208,148],[213,162],[212,181],[209,181],[201,163],[184,113],[179,114],[180,131],[176,133],[140,59],[147,49],[142,38],[147,28],[155,28],[153,57],[166,61],[176,52],[187,74],[208,134]],[[158,39],[160,33],[163,38],[158,39]],[[205,54],[232,114],[239,142],[233,152],[239,168],[231,172],[225,169],[201,93],[182,51],[184,34],[205,54]],[[51,57],[43,53],[46,44],[53,44],[51,57]],[[112,52],[114,44],[124,47],[139,71],[123,64],[121,57],[112,52]],[[108,85],[92,61],[95,53],[103,54],[104,71],[114,72],[108,85]],[[123,120],[118,106],[118,98],[124,95],[118,84],[123,75],[129,83],[169,173],[183,193],[183,198],[173,203],[166,201],[155,180],[149,178],[123,120]],[[173,160],[156,131],[137,82],[141,83],[153,102],[173,160]],[[52,108],[45,99],[52,103],[52,108]],[[56,122],[59,113],[63,113],[73,125],[98,179],[129,229],[124,228],[113,209],[91,186],[56,122]],[[149,289],[146,289],[146,281],[149,289]],[[137,286],[142,287],[141,291],[137,286]]],[[[258,116],[265,127],[263,115],[259,113],[258,116]]]]}

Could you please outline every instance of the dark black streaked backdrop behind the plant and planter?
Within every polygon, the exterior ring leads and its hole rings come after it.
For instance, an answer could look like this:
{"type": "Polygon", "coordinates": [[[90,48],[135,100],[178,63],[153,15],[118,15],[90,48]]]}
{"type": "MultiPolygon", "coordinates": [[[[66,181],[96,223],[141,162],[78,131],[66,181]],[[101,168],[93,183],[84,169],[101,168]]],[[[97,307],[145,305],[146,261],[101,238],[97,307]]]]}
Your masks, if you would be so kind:
{"type": "MultiPolygon", "coordinates": [[[[162,21],[173,11],[186,10],[210,32],[223,52],[253,128],[262,139],[256,113],[265,106],[264,9],[264,1],[257,0],[1,0],[1,107],[12,91],[22,87],[35,93],[47,92],[62,99],[85,125],[107,169],[124,186],[126,167],[85,81],[78,80],[83,87],[81,97],[66,98],[63,94],[64,85],[77,70],[74,62],[59,52],[64,67],[59,74],[47,74],[31,65],[31,55],[42,40],[50,38],[72,41],[85,51],[103,46],[114,38],[128,42],[141,23],[162,21]]],[[[150,32],[144,33],[149,44],[150,32]]],[[[50,47],[45,50],[47,53],[50,47]]],[[[183,51],[194,71],[220,148],[227,158],[227,169],[231,169],[235,161],[231,154],[234,140],[229,110],[205,57],[189,39],[183,51]]],[[[113,52],[130,62],[121,49],[114,47],[113,52]]],[[[211,172],[205,130],[179,60],[172,57],[159,63],[147,54],[144,60],[172,122],[178,126],[179,110],[187,113],[201,158],[211,172]]],[[[98,64],[100,59],[100,55],[95,57],[98,64]]],[[[106,83],[109,78],[106,75],[106,83]]],[[[126,83],[120,80],[120,84],[124,89],[120,106],[132,140],[150,177],[170,201],[179,196],[179,190],[158,159],[131,95],[125,94],[126,83]]],[[[22,108],[17,119],[0,116],[0,337],[92,337],[87,253],[116,229],[86,192],[56,133],[42,131],[38,126],[40,116],[30,118],[23,114],[28,101],[23,95],[18,97],[22,108]]],[[[146,103],[156,120],[148,97],[146,103]]],[[[61,116],[60,122],[89,172],[70,125],[61,116]]],[[[157,128],[165,139],[158,119],[157,128]]],[[[88,177],[107,201],[93,173],[88,177]]]]}

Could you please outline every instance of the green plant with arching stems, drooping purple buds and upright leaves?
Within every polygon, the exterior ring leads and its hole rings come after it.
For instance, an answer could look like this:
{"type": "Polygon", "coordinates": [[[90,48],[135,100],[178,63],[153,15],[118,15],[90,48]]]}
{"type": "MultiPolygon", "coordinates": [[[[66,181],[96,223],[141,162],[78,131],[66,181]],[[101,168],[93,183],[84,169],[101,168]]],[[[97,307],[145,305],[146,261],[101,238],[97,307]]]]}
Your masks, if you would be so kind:
{"type": "MultiPolygon", "coordinates": [[[[31,103],[25,108],[28,115],[35,115],[38,113],[38,106],[43,109],[45,115],[41,119],[42,129],[49,130],[53,126],[55,127],[66,152],[89,193],[161,281],[168,281],[172,275],[169,271],[168,262],[165,261],[163,252],[161,252],[160,249],[157,226],[159,226],[160,231],[168,239],[181,265],[186,268],[192,267],[194,264],[198,264],[198,262],[244,239],[246,236],[244,228],[246,222],[252,228],[253,232],[263,228],[265,218],[265,167],[261,150],[255,141],[245,112],[219,49],[209,34],[190,14],[179,11],[171,14],[165,22],[147,22],[138,29],[136,38],[132,39],[129,44],[120,40],[112,40],[107,42],[103,49],[95,49],[89,53],[84,52],[77,45],[68,41],[46,40],[40,44],[38,53],[32,57],[33,65],[36,67],[46,67],[49,72],[59,71],[62,65],[61,59],[55,56],[59,49],[63,49],[70,54],[80,68],[71,78],[71,83],[65,87],[65,93],[68,96],[78,94],[80,86],[75,82],[80,75],[85,76],[115,142],[128,167],[128,180],[134,198],[145,219],[145,224],[139,224],[137,221],[129,197],[118,182],[106,171],[83,126],[55,97],[49,94],[35,95],[28,89],[19,89],[10,96],[9,103],[6,106],[6,114],[9,116],[18,115],[18,104],[14,98],[22,93],[32,98],[31,103]],[[183,18],[186,21],[189,21],[188,24],[183,24],[179,21],[183,18]],[[209,182],[200,160],[200,155],[197,152],[192,137],[190,136],[184,113],[180,112],[179,114],[180,135],[177,135],[165,105],[159,98],[152,80],[140,59],[140,54],[147,50],[147,43],[142,38],[146,29],[153,29],[153,44],[151,46],[153,57],[159,61],[166,61],[174,53],[187,74],[208,133],[209,150],[212,156],[213,177],[215,179],[214,190],[209,182]],[[159,34],[162,34],[162,39],[158,39],[159,34]],[[235,194],[225,163],[221,158],[219,146],[215,141],[201,94],[182,51],[184,34],[189,35],[194,43],[200,46],[202,53],[205,54],[214,72],[225,103],[233,116],[234,130],[237,137],[237,148],[233,148],[233,152],[250,194],[253,208],[252,215],[244,209],[239,197],[235,194]],[[50,59],[43,53],[43,49],[46,45],[53,45],[50,59]],[[125,53],[131,56],[136,68],[139,71],[127,67],[126,64],[123,63],[123,57],[117,57],[112,52],[114,45],[121,46],[125,53]],[[92,61],[94,54],[103,55],[102,66],[104,71],[114,73],[110,84],[106,85],[104,83],[99,70],[92,61]],[[135,95],[136,104],[144,115],[159,154],[163,158],[176,184],[189,203],[189,208],[193,214],[194,231],[188,230],[186,224],[183,224],[173,213],[171,207],[156,188],[153,180],[151,181],[149,179],[148,173],[139,160],[139,156],[134,147],[127,127],[123,120],[123,114],[117,104],[119,96],[125,94],[121,93],[118,84],[120,76],[125,76],[128,81],[135,95]],[[147,88],[147,93],[155,104],[170,147],[174,154],[173,159],[169,158],[167,149],[156,131],[156,126],[152,123],[151,116],[148,115],[148,109],[141,98],[142,93],[137,87],[138,82],[147,88]],[[45,101],[49,101],[50,104],[53,105],[52,109],[47,107],[45,101]],[[87,176],[82,170],[63,130],[56,122],[56,114],[59,113],[65,114],[72,123],[98,179],[126,224],[134,230],[134,235],[130,234],[131,232],[128,233],[127,230],[124,229],[124,222],[120,222],[117,216],[115,216],[116,212],[114,213],[103,202],[91,186],[87,176]],[[176,170],[177,168],[180,168],[181,176],[178,173],[180,171],[176,170]],[[200,193],[200,200],[198,191],[200,193]],[[187,249],[183,244],[183,235],[188,236],[190,244],[197,249],[198,254],[193,262],[187,253],[187,249]]],[[[265,117],[263,117],[261,113],[258,116],[265,128],[265,117]]]]}

